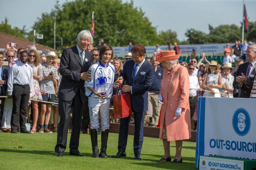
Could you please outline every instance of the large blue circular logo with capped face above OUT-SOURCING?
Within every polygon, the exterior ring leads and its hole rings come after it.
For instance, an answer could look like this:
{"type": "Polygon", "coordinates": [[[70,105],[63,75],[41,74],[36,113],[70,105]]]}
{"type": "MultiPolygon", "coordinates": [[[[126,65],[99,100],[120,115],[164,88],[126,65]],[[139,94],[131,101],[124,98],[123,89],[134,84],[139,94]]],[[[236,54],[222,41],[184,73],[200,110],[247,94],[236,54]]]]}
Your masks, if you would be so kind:
{"type": "Polygon", "coordinates": [[[243,109],[237,109],[233,115],[233,129],[239,136],[246,135],[251,127],[251,119],[249,113],[243,109]]]}

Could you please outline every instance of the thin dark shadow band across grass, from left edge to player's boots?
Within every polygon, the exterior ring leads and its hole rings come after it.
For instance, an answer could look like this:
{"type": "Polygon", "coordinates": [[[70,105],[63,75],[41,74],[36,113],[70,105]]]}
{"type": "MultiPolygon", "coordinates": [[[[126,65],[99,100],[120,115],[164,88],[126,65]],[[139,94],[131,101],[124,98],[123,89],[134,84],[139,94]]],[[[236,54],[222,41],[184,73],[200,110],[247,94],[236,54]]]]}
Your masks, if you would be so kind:
{"type": "MultiPolygon", "coordinates": [[[[13,152],[13,153],[28,153],[28,154],[39,154],[39,155],[51,155],[55,156],[55,151],[47,151],[47,150],[20,150],[20,149],[0,149],[0,152],[13,152]]],[[[82,153],[86,156],[91,155],[91,153],[82,153]]],[[[63,156],[68,156],[69,152],[66,151],[63,153],[63,156]]]]}

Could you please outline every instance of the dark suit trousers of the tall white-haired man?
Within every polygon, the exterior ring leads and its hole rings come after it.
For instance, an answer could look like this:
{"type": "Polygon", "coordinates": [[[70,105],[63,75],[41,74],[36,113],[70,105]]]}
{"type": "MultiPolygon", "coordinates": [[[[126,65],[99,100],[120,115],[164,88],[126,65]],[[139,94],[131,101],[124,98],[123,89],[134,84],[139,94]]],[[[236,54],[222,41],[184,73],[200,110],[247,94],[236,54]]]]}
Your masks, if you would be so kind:
{"type": "Polygon", "coordinates": [[[64,152],[67,146],[68,128],[70,113],[72,112],[72,132],[69,143],[69,152],[78,153],[80,127],[82,118],[83,103],[81,101],[80,90],[71,101],[64,101],[59,98],[60,123],[58,126],[57,144],[55,152],[64,152]]]}

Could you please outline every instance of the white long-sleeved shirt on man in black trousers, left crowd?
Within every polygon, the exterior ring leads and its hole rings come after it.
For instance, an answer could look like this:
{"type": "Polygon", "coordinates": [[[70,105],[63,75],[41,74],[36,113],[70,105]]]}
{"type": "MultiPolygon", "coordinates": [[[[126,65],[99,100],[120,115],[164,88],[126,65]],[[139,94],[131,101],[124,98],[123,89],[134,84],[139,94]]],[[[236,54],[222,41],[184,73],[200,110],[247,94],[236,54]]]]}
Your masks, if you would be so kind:
{"type": "Polygon", "coordinates": [[[12,96],[13,85],[29,85],[30,93],[32,92],[33,87],[33,69],[27,63],[24,64],[22,61],[13,64],[10,69],[8,77],[8,95],[12,96]]]}

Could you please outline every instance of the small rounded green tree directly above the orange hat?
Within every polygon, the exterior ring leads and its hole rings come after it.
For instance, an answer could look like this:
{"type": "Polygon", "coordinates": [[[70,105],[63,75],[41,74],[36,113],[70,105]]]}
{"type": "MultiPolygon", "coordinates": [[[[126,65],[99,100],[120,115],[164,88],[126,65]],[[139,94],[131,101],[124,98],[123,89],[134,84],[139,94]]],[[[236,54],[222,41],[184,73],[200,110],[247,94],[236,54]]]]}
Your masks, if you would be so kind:
{"type": "Polygon", "coordinates": [[[177,33],[175,31],[172,31],[171,29],[167,31],[161,31],[158,36],[161,40],[162,45],[167,45],[173,42],[179,43],[177,39],[177,33]]]}

